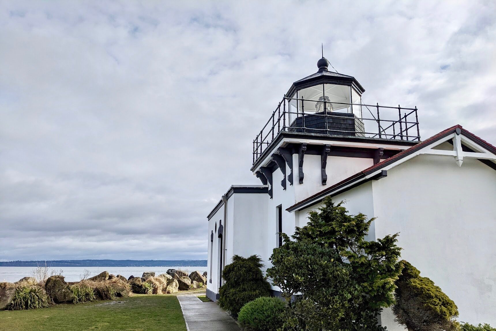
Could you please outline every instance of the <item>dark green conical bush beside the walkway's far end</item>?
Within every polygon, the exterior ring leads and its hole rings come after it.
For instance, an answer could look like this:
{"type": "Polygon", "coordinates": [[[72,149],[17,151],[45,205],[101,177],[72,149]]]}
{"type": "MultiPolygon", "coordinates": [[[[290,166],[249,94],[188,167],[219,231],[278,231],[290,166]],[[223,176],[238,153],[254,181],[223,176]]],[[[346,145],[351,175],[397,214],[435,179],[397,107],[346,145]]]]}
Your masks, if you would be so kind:
{"type": "Polygon", "coordinates": [[[262,259],[256,255],[243,258],[233,256],[233,262],[222,270],[226,281],[220,288],[218,300],[222,309],[237,316],[240,309],[250,301],[262,296],[270,296],[270,284],[260,269],[262,259]]]}

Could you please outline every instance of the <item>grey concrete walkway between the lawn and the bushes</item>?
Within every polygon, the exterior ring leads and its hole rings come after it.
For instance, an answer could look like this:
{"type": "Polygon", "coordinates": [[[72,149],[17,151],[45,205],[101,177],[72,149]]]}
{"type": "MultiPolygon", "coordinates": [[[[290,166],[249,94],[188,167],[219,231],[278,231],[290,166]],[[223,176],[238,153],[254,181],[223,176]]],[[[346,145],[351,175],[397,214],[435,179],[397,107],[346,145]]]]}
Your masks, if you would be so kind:
{"type": "Polygon", "coordinates": [[[193,294],[178,295],[188,331],[239,331],[236,321],[215,302],[202,302],[193,294]]]}

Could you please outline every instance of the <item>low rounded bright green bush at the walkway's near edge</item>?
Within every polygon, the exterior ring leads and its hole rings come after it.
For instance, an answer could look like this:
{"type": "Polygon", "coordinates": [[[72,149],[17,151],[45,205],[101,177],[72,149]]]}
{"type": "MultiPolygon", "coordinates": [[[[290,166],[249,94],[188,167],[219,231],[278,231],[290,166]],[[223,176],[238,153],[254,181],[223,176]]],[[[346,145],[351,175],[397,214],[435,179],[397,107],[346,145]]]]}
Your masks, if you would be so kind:
{"type": "Polygon", "coordinates": [[[247,330],[276,331],[282,326],[284,302],[279,298],[261,297],[241,308],[238,322],[247,330]]]}

